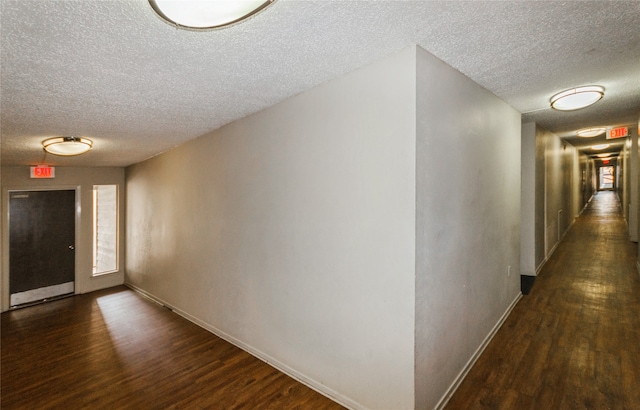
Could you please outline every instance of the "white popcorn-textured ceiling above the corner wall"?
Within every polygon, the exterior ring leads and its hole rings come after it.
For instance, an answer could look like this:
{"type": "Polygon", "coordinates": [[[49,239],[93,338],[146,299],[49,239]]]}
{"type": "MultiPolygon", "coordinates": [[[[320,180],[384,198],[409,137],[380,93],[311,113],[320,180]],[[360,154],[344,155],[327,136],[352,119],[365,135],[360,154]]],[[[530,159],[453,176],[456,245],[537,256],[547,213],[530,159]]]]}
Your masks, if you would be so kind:
{"type": "Polygon", "coordinates": [[[412,44],[561,136],[640,115],[637,1],[278,0],[201,32],[147,0],[0,2],[3,165],[41,162],[57,135],[94,150],[51,165],[130,165],[412,44]],[[591,84],[596,105],[548,108],[591,84]]]}

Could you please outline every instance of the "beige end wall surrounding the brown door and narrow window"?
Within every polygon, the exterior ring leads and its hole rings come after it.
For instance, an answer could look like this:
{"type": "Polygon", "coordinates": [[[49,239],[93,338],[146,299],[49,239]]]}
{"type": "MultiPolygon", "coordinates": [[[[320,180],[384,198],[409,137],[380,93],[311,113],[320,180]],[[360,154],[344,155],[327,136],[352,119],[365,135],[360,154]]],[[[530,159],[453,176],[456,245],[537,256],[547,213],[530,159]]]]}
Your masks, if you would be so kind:
{"type": "Polygon", "coordinates": [[[124,241],[120,241],[117,272],[93,277],[93,185],[117,184],[120,188],[120,233],[124,237],[124,168],[58,167],[54,179],[31,179],[29,167],[2,167],[2,310],[9,309],[9,191],[71,189],[76,191],[76,293],[120,285],[124,282],[124,241]]]}

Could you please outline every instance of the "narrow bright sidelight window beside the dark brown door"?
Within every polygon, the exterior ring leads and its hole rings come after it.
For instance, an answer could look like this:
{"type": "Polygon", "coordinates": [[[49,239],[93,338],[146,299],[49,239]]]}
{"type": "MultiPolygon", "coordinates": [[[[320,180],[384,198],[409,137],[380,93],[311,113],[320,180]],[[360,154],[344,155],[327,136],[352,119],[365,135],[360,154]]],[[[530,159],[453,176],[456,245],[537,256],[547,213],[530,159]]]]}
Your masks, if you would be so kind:
{"type": "Polygon", "coordinates": [[[93,276],[118,270],[118,186],[93,186],[93,276]]]}

